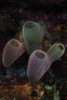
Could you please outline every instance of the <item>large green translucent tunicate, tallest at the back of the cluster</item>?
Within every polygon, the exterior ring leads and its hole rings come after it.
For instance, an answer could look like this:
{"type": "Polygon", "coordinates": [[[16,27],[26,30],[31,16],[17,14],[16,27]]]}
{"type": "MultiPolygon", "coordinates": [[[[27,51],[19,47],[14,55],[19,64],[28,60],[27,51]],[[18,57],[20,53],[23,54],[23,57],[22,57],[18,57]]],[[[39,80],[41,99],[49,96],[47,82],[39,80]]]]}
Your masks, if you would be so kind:
{"type": "Polygon", "coordinates": [[[48,32],[41,22],[27,21],[23,25],[22,33],[26,49],[31,54],[34,50],[42,49],[44,35],[48,32]]]}

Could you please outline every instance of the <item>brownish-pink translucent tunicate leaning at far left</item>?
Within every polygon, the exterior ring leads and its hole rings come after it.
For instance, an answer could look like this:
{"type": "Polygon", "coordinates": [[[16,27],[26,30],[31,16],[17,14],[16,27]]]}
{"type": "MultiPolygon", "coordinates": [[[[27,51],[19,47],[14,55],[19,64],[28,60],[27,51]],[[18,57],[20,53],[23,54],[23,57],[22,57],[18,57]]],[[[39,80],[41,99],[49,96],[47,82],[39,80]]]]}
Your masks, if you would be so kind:
{"type": "Polygon", "coordinates": [[[2,55],[2,63],[5,67],[9,67],[26,51],[24,44],[16,39],[7,42],[2,55]]]}

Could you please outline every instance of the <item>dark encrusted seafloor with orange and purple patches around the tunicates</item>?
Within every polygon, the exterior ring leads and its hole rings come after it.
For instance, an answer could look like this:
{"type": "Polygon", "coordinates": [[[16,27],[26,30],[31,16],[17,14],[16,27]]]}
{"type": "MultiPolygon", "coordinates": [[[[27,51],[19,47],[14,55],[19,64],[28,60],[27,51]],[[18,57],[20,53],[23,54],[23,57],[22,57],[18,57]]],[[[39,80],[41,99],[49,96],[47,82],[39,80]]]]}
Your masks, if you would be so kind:
{"type": "MultiPolygon", "coordinates": [[[[66,7],[67,1],[65,0],[54,0],[54,2],[48,0],[47,3],[45,0],[0,1],[0,100],[67,100],[66,7]],[[41,80],[36,83],[29,82],[26,74],[23,77],[16,73],[7,75],[7,68],[2,64],[5,44],[12,38],[22,39],[22,26],[28,20],[43,21],[47,25],[52,38],[44,39],[43,49],[45,51],[55,42],[63,43],[65,46],[64,55],[55,61],[41,80]],[[14,89],[14,86],[17,88],[14,89]],[[22,89],[22,94],[19,88],[22,89]],[[44,95],[41,97],[39,93],[43,91],[44,95]]],[[[26,51],[11,67],[16,70],[23,67],[26,72],[28,59],[29,54],[26,51]]]]}

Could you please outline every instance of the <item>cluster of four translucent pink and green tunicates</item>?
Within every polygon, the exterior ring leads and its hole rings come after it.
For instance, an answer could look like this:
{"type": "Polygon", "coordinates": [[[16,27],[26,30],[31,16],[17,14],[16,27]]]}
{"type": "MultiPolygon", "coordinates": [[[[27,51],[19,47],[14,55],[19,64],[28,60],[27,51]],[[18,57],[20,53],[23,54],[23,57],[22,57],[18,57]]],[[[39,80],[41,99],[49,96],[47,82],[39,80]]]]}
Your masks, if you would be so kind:
{"type": "MultiPolygon", "coordinates": [[[[65,47],[61,43],[54,43],[47,52],[43,51],[44,37],[46,36],[51,40],[51,35],[46,25],[43,25],[42,22],[25,22],[22,28],[22,35],[24,43],[16,39],[8,41],[3,51],[2,63],[5,67],[9,67],[27,50],[30,55],[27,66],[27,77],[30,81],[37,82],[50,68],[51,64],[64,54],[65,47]],[[12,55],[10,53],[12,53],[12,55]],[[7,57],[7,54],[9,54],[9,57],[7,57]]],[[[10,70],[11,69],[7,69],[7,74],[12,73],[10,70]]],[[[17,73],[23,77],[25,70],[20,68],[17,70],[17,73]]]]}

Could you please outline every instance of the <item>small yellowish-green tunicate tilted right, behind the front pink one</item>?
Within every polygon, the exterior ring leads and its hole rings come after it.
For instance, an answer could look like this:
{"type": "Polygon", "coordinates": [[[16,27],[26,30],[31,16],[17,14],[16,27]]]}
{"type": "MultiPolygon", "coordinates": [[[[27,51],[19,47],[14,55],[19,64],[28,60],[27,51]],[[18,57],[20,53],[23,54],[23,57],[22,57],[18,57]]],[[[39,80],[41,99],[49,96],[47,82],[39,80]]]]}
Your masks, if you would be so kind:
{"type": "Polygon", "coordinates": [[[47,51],[51,62],[56,61],[59,59],[65,52],[65,47],[61,43],[54,43],[49,50],[47,51]]]}

